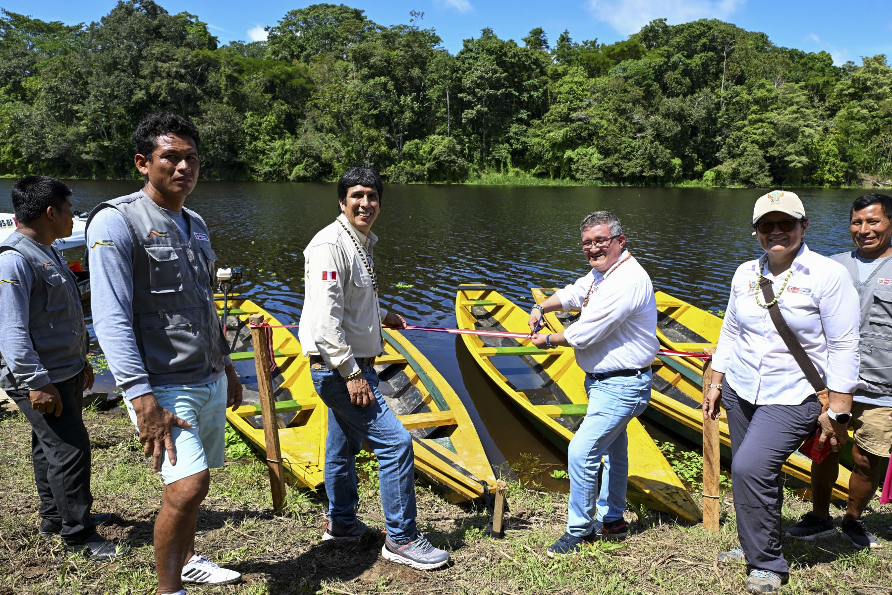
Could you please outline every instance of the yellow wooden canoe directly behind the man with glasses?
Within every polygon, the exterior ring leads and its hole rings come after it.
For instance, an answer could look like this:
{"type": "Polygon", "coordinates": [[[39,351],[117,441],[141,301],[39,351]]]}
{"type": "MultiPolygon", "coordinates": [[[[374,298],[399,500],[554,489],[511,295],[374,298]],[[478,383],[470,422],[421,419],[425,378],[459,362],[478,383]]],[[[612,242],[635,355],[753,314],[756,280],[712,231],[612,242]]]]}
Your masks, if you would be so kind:
{"type": "MultiPolygon", "coordinates": [[[[529,314],[487,285],[461,285],[456,319],[463,329],[524,333],[529,314]],[[475,288],[476,287],[476,288],[475,288]]],[[[557,319],[552,323],[559,325],[557,319]]],[[[563,326],[555,327],[559,332],[563,326]]],[[[568,347],[544,351],[515,339],[462,335],[468,351],[549,441],[566,450],[588,407],[585,373],[568,347]]],[[[629,436],[629,499],[688,521],[701,517],[697,502],[637,419],[629,436]]]]}

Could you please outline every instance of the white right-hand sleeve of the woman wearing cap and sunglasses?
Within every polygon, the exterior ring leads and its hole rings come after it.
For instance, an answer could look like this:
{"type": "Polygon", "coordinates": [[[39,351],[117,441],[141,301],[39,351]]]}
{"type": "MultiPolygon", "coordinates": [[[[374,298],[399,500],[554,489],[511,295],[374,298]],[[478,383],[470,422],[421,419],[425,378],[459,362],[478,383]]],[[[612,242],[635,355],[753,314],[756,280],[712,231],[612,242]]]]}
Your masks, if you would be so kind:
{"type": "Polygon", "coordinates": [[[859,385],[859,304],[845,269],[827,276],[818,307],[827,339],[827,388],[837,393],[855,393],[859,385]]]}

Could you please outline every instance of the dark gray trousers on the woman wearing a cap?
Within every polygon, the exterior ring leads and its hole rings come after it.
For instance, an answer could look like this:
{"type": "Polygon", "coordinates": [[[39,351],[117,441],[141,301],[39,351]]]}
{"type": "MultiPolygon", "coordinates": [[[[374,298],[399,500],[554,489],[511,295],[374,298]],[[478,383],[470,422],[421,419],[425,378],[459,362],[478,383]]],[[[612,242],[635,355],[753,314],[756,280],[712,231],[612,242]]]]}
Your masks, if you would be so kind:
{"type": "Polygon", "coordinates": [[[821,403],[811,395],[798,405],[753,405],[725,381],[722,404],[731,432],[731,491],[747,572],[770,570],[786,578],[780,550],[780,467],[814,433],[821,403]]]}

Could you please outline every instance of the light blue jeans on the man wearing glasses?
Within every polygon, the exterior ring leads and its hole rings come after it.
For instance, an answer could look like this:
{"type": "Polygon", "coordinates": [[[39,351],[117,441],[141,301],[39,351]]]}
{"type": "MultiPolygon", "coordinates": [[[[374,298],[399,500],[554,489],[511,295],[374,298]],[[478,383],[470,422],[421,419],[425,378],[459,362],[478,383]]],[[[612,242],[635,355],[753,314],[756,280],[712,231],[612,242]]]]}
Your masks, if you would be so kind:
{"type": "Polygon", "coordinates": [[[602,523],[623,518],[629,481],[629,440],[625,426],[640,416],[650,402],[652,373],[611,376],[602,380],[585,376],[589,408],[567,450],[570,503],[566,531],[576,537],[591,533],[602,523]],[[598,470],[603,459],[601,489],[598,470]],[[597,501],[596,501],[597,498],[597,501]],[[596,507],[597,505],[597,507],[596,507]]]}

